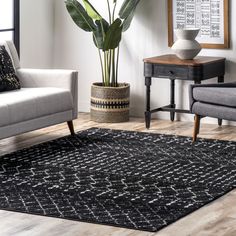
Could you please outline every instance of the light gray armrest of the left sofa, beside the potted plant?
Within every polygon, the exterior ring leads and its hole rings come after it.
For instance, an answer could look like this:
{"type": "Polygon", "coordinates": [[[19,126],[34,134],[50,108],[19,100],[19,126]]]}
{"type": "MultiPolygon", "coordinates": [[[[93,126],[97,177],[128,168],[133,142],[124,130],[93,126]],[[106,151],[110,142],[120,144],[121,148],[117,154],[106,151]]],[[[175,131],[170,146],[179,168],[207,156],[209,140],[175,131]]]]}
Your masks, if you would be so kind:
{"type": "Polygon", "coordinates": [[[74,70],[18,69],[16,74],[22,88],[56,87],[71,92],[73,98],[73,118],[78,113],[78,72],[74,70]]]}

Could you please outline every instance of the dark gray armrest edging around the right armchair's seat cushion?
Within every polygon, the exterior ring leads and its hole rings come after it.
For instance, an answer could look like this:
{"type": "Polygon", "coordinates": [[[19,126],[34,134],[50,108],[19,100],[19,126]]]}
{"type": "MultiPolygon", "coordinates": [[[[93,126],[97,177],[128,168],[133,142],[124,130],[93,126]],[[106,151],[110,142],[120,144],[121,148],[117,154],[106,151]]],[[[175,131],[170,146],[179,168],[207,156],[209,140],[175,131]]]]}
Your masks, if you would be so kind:
{"type": "Polygon", "coordinates": [[[189,105],[190,111],[192,112],[192,107],[195,102],[193,97],[193,89],[194,88],[236,88],[236,82],[230,83],[214,83],[214,84],[191,84],[189,85],[189,105]]]}

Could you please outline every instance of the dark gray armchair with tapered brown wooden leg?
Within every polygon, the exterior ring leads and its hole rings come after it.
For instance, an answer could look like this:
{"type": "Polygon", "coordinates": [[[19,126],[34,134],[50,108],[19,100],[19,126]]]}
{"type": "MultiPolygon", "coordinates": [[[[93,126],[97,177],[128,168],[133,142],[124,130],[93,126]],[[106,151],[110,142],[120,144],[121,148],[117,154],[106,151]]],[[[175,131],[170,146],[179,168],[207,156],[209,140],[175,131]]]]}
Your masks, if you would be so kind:
{"type": "Polygon", "coordinates": [[[236,121],[236,82],[222,84],[190,85],[190,111],[195,114],[193,141],[200,131],[200,120],[209,116],[236,121]]]}

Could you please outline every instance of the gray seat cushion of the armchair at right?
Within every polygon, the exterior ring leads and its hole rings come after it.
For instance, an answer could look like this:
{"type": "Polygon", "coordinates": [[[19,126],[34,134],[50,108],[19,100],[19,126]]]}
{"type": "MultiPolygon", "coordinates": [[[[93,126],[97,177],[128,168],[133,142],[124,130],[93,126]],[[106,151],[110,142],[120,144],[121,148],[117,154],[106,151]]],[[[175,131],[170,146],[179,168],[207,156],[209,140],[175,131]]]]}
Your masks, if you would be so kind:
{"type": "Polygon", "coordinates": [[[193,98],[200,102],[236,107],[236,88],[196,87],[193,98]]]}

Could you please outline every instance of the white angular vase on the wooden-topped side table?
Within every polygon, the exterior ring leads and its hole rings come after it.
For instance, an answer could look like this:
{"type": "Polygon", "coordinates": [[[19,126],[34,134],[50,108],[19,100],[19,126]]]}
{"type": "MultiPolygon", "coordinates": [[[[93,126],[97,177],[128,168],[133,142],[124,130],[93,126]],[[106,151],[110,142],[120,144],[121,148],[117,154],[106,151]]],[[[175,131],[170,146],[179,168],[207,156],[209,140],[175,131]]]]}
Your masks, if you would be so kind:
{"type": "Polygon", "coordinates": [[[200,29],[176,29],[177,41],[172,46],[176,56],[182,60],[193,59],[201,51],[201,45],[195,40],[200,29]]]}

